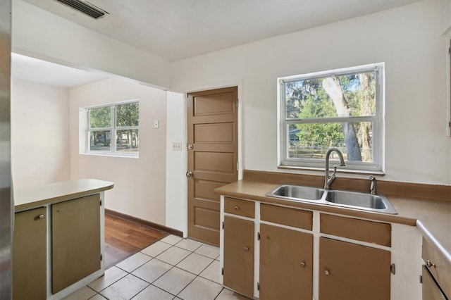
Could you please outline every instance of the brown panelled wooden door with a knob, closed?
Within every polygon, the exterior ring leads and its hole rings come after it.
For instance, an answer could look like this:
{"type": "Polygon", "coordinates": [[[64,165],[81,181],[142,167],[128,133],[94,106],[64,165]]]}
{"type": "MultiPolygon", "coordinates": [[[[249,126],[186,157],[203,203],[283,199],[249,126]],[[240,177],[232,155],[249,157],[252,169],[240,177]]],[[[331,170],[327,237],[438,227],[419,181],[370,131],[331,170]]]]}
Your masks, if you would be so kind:
{"type": "Polygon", "coordinates": [[[238,179],[237,87],[188,94],[188,237],[219,246],[221,187],[238,179]]]}

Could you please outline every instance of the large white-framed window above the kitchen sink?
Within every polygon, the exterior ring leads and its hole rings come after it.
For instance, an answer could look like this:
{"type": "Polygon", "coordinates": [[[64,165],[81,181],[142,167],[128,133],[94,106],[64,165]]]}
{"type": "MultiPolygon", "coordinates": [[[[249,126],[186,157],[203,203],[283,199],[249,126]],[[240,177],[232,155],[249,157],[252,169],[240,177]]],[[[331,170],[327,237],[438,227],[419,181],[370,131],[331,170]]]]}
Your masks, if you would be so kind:
{"type": "Polygon", "coordinates": [[[383,171],[383,63],[279,78],[280,167],[383,171]],[[331,159],[334,159],[332,157],[331,159]]]}

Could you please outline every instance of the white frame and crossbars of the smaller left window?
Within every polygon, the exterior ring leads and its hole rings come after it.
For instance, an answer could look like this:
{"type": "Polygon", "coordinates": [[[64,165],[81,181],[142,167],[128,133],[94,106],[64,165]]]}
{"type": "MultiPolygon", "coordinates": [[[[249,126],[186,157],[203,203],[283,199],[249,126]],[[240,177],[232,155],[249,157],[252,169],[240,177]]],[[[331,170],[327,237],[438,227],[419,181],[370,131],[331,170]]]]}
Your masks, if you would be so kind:
{"type": "Polygon", "coordinates": [[[113,104],[102,104],[98,106],[89,106],[85,107],[86,112],[86,147],[85,147],[85,154],[91,154],[91,155],[100,155],[100,156],[125,156],[125,157],[139,157],[140,151],[135,152],[129,152],[129,151],[117,151],[116,149],[116,132],[118,130],[137,130],[138,135],[140,135],[140,125],[137,126],[116,126],[116,106],[121,106],[123,104],[138,104],[138,109],[140,106],[140,99],[132,99],[127,101],[121,101],[116,102],[113,104]],[[102,107],[109,107],[111,109],[111,120],[110,120],[110,127],[96,127],[91,128],[91,113],[90,110],[93,108],[102,108],[102,107]],[[94,151],[91,150],[91,144],[90,144],[90,137],[91,132],[94,131],[110,131],[111,135],[111,151],[94,151]]]}

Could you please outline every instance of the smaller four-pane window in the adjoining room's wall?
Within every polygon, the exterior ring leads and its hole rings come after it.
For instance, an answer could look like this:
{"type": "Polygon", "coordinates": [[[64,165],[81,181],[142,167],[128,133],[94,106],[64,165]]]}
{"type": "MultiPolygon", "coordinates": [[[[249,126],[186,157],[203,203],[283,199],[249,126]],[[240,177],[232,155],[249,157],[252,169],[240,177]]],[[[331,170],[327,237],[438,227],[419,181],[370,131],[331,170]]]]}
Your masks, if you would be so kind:
{"type": "Polygon", "coordinates": [[[137,156],[139,125],[137,101],[87,108],[87,152],[137,156]]]}

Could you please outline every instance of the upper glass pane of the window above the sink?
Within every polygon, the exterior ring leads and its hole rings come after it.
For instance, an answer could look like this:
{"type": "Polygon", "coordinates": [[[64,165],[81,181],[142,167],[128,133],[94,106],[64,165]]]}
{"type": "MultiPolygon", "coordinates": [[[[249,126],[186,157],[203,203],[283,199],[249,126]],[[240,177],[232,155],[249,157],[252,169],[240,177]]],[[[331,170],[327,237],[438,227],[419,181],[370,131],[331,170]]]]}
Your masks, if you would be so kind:
{"type": "Polygon", "coordinates": [[[376,72],[285,82],[285,118],[376,115],[376,72]]]}

